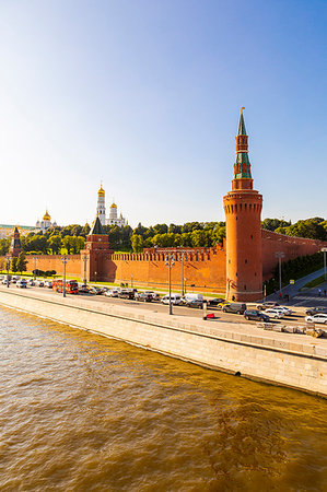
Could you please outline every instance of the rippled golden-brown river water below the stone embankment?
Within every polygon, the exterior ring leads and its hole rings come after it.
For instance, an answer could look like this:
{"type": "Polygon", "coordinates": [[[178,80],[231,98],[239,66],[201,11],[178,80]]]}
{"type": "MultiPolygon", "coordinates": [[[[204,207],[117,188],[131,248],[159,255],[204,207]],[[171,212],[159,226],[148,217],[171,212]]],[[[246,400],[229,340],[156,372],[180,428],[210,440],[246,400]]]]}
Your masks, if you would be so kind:
{"type": "Polygon", "coordinates": [[[327,401],[0,309],[1,491],[326,491],[327,401]]]}

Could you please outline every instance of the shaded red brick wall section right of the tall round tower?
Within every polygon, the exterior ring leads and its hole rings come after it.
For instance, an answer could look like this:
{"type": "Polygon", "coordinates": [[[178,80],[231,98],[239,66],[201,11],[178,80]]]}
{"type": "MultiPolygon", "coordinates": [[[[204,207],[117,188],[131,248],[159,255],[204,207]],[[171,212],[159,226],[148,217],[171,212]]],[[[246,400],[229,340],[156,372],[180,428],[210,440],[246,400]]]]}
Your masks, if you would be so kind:
{"type": "Polygon", "coordinates": [[[271,279],[278,263],[277,251],[284,253],[283,261],[295,259],[299,256],[314,255],[322,247],[327,247],[327,242],[307,239],[306,237],[285,236],[265,229],[261,230],[262,237],[262,278],[271,279]]]}

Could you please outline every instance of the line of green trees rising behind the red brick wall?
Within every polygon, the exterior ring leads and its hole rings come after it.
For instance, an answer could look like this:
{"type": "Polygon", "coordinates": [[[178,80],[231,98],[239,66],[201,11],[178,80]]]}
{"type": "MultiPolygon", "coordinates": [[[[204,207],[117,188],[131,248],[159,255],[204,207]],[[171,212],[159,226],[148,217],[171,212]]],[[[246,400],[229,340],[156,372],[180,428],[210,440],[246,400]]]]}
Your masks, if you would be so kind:
{"type": "MultiPolygon", "coordinates": [[[[327,221],[312,218],[291,222],[279,219],[265,219],[262,229],[280,234],[327,241],[327,221]]],[[[225,238],[225,222],[186,222],[183,225],[155,224],[145,227],[141,223],[132,229],[129,225],[103,226],[108,235],[110,248],[115,251],[140,253],[143,248],[165,247],[212,247],[225,238]]],[[[30,233],[21,236],[22,250],[26,255],[79,254],[85,247],[90,226],[71,224],[66,227],[51,227],[44,234],[30,233]]],[[[0,239],[0,256],[9,251],[11,238],[0,239]]]]}

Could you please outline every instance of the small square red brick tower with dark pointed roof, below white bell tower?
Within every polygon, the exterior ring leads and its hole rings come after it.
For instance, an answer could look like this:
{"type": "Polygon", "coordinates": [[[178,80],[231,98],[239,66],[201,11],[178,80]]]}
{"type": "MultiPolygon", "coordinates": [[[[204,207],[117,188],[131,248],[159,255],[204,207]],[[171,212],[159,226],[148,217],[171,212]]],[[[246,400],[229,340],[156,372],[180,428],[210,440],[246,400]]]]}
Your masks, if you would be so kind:
{"type": "Polygon", "coordinates": [[[87,281],[106,280],[105,262],[114,253],[109,248],[108,236],[104,234],[98,216],[95,219],[89,236],[86,236],[86,248],[81,251],[81,276],[87,281]]]}

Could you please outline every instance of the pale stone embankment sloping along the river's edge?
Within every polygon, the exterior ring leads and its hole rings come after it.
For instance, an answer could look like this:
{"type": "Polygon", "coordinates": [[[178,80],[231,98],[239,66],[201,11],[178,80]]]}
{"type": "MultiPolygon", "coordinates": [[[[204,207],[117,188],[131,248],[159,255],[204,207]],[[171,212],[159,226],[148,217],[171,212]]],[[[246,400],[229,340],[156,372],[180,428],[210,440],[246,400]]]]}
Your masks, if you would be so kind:
{"type": "Polygon", "coordinates": [[[0,305],[206,367],[327,397],[327,339],[113,306],[52,292],[0,289],[0,305]]]}

